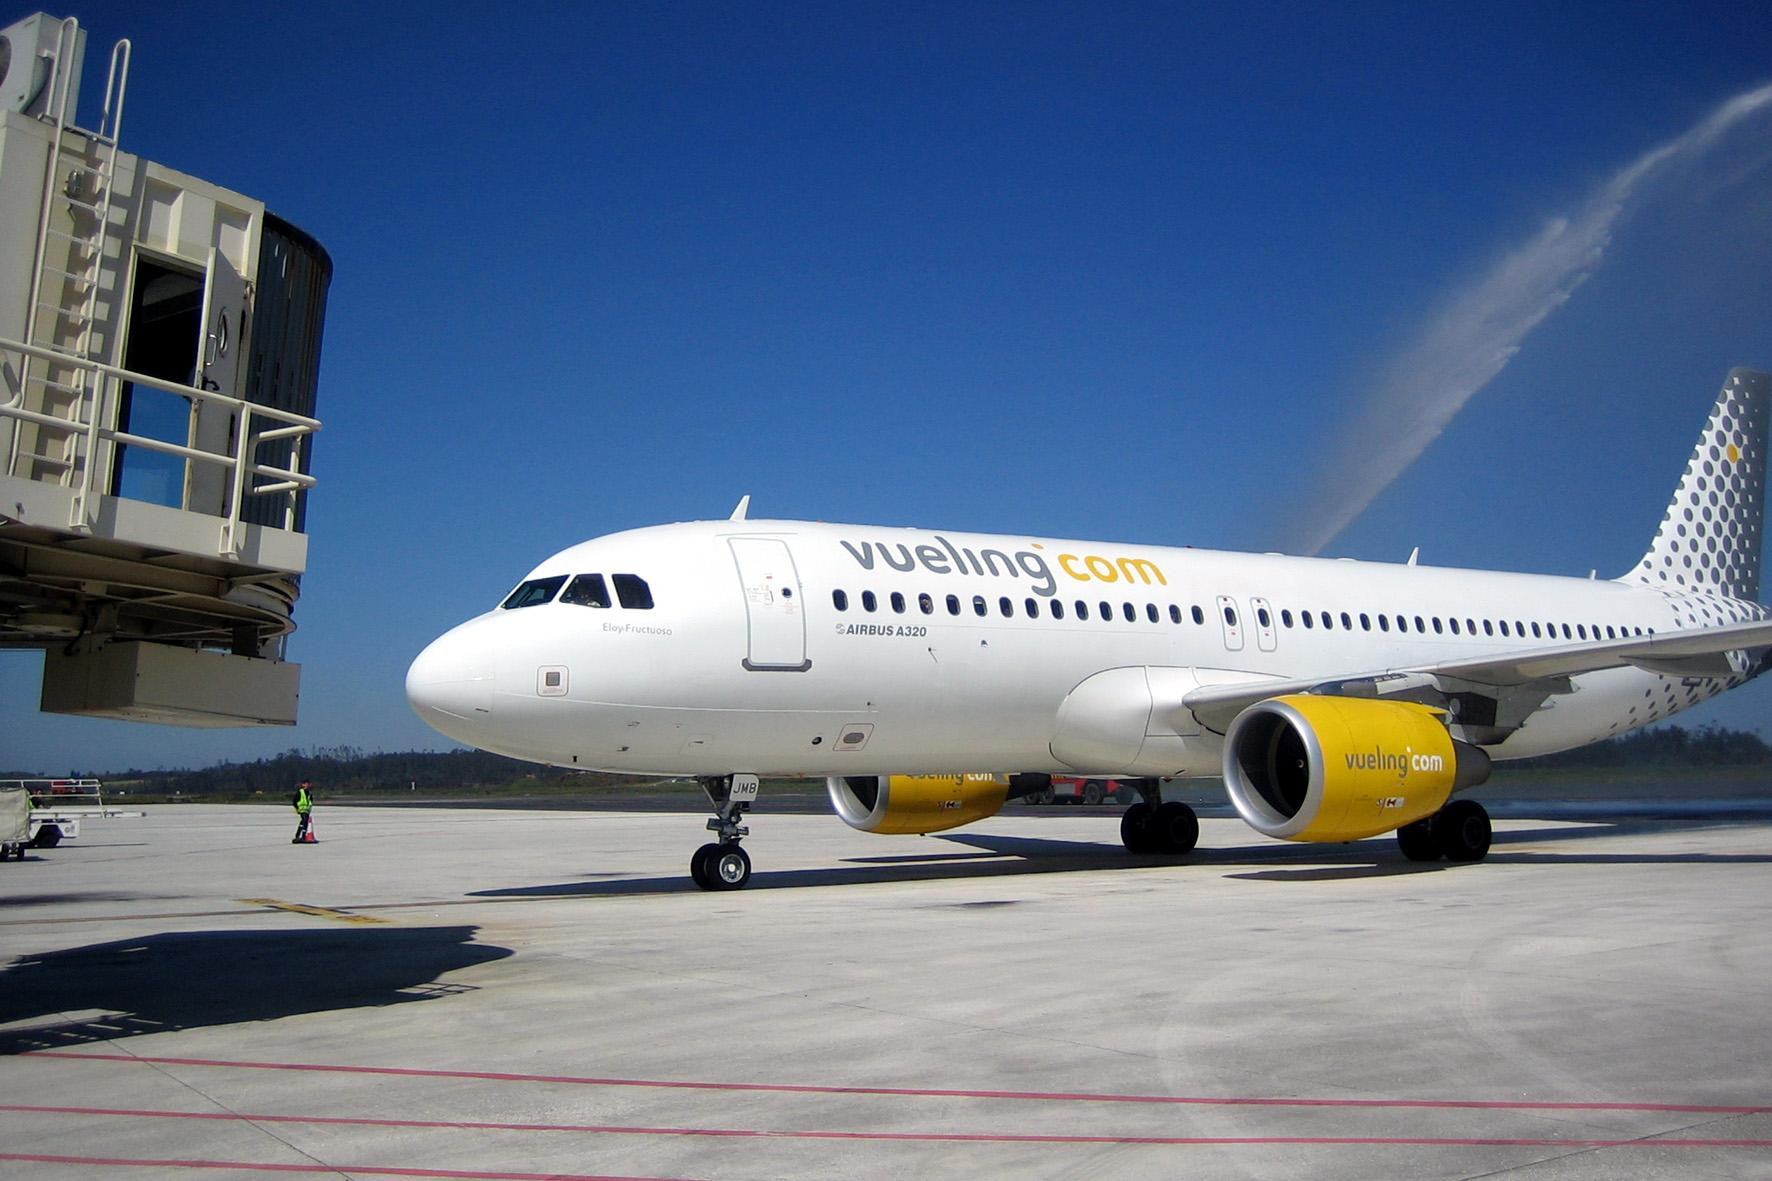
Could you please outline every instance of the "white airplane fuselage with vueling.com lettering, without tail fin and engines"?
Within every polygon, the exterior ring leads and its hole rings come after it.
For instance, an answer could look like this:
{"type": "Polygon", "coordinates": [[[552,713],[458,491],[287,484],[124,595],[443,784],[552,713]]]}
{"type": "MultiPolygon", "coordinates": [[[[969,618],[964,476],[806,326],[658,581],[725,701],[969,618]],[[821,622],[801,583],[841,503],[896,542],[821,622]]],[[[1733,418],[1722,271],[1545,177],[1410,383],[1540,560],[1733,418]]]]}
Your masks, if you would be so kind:
{"type": "MultiPolygon", "coordinates": [[[[1623,582],[808,521],[613,534],[523,587],[553,580],[420,656],[425,718],[521,759],[659,775],[1217,775],[1223,736],[1173,708],[1201,684],[1767,617],[1623,582]],[[588,575],[604,592],[565,601],[588,575]],[[610,592],[617,575],[647,594],[610,592]],[[1074,693],[1104,674],[1143,684],[1148,716],[1122,690],[1074,693]]],[[[1595,741],[1737,679],[1586,672],[1492,754],[1595,741]]]]}

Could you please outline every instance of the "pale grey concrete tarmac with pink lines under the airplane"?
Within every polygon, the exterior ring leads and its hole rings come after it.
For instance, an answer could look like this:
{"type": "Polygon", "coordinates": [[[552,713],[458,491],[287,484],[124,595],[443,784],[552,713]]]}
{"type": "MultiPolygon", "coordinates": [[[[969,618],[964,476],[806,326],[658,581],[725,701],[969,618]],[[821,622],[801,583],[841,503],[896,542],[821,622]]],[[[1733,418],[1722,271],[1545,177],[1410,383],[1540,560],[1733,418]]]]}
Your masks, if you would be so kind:
{"type": "Polygon", "coordinates": [[[4,1176],[1772,1176],[1765,819],[147,812],[0,865],[4,1176]]]}

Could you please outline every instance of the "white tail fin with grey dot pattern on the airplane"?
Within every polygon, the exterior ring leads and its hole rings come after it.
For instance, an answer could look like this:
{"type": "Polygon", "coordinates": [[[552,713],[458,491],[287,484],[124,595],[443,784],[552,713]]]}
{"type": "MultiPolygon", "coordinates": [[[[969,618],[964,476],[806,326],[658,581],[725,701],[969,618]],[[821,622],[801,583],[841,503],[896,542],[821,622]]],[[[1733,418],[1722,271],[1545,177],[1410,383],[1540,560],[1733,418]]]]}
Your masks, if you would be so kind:
{"type": "Polygon", "coordinates": [[[1731,369],[1655,544],[1620,582],[1760,599],[1772,378],[1731,369]]]}

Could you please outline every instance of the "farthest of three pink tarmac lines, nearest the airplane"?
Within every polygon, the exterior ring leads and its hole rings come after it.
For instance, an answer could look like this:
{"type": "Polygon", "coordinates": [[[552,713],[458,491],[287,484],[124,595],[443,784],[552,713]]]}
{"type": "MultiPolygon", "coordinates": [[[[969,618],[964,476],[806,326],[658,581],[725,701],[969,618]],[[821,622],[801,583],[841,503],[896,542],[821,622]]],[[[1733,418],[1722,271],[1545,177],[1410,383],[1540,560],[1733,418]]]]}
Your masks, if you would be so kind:
{"type": "Polygon", "coordinates": [[[1037,1103],[1152,1103],[1171,1107],[1343,1107],[1343,1108],[1409,1108],[1409,1110],[1478,1110],[1478,1112],[1685,1112],[1698,1115],[1758,1115],[1772,1112],[1772,1105],[1710,1105],[1710,1103],[1545,1103],[1510,1099],[1281,1099],[1235,1096],[1173,1096],[1173,1094],[1097,1094],[1086,1091],[953,1091],[934,1087],[826,1087],[815,1083],[721,1083],[657,1078],[595,1078],[576,1075],[512,1075],[505,1071],[443,1071],[409,1066],[337,1066],[321,1062],[239,1062],[229,1059],[163,1059],[133,1053],[71,1053],[66,1050],[32,1050],[30,1059],[71,1059],[90,1062],[145,1062],[152,1066],[214,1066],[250,1071],[314,1071],[328,1075],[392,1075],[400,1078],[473,1078],[480,1082],[569,1083],[578,1087],[659,1087],[670,1091],[764,1091],[774,1094],[879,1094],[918,1099],[1028,1099],[1037,1103]]]}

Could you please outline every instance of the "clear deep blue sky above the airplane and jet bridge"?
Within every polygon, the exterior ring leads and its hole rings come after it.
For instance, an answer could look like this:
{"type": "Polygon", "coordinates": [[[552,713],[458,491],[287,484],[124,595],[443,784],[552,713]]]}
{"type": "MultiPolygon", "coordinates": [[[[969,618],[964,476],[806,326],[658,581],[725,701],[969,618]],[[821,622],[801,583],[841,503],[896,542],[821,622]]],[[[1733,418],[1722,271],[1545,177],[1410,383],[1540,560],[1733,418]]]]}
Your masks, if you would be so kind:
{"type": "MultiPolygon", "coordinates": [[[[1442,309],[1772,82],[1744,4],[74,14],[89,82],[135,43],[128,151],[337,273],[301,723],[39,715],[0,653],[0,764],[46,773],[441,748],[400,690],[431,637],[742,493],[1276,548],[1386,445],[1345,424],[1442,309]]],[[[1632,192],[1517,349],[1325,553],[1625,573],[1724,372],[1772,367],[1772,117],[1632,192]]]]}

